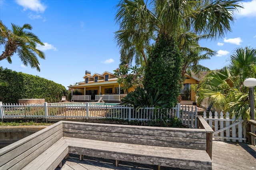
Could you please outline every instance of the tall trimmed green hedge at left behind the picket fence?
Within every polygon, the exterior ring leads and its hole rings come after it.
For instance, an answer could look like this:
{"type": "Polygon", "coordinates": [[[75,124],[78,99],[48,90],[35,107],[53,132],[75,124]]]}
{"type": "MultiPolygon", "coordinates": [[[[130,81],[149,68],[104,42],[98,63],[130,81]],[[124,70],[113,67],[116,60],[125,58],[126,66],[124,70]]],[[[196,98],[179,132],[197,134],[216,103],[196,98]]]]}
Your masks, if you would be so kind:
{"type": "Polygon", "coordinates": [[[0,80],[8,83],[8,86],[0,86],[0,101],[3,103],[18,103],[18,99],[45,99],[54,103],[68,93],[63,85],[54,81],[3,67],[0,67],[0,80]]]}

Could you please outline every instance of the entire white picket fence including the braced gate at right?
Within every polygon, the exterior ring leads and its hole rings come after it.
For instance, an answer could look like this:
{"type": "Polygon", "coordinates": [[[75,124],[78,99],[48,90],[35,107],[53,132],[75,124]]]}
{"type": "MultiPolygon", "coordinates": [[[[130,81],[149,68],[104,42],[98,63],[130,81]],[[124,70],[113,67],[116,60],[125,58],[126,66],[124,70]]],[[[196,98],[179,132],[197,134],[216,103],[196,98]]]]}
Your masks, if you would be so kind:
{"type": "MultiPolygon", "coordinates": [[[[178,104],[172,109],[159,110],[155,108],[140,108],[116,105],[113,103],[47,103],[38,105],[3,104],[0,102],[0,119],[122,119],[129,121],[151,121],[157,119],[168,119],[177,117],[183,125],[190,128],[197,128],[197,107],[182,106],[178,104]],[[164,113],[163,113],[164,112],[164,113]]],[[[204,119],[214,130],[214,140],[226,140],[242,142],[246,140],[243,131],[243,120],[230,118],[226,114],[215,112],[209,113],[204,119]]]]}

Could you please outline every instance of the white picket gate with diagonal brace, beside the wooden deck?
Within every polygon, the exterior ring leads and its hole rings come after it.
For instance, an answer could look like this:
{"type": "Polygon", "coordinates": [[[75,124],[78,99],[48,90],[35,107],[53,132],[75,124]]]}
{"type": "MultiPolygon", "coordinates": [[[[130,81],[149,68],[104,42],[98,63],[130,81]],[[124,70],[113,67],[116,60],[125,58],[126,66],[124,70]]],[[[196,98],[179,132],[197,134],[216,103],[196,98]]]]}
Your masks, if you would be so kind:
{"type": "Polygon", "coordinates": [[[246,138],[243,138],[243,135],[245,136],[245,132],[243,132],[244,120],[242,120],[242,118],[236,119],[235,116],[230,118],[230,114],[228,112],[226,114],[223,112],[220,114],[217,112],[214,114],[209,112],[208,116],[206,116],[206,112],[204,112],[204,119],[214,130],[214,140],[232,140],[232,142],[236,142],[237,140],[238,142],[242,142],[242,140],[246,140],[246,138]]]}

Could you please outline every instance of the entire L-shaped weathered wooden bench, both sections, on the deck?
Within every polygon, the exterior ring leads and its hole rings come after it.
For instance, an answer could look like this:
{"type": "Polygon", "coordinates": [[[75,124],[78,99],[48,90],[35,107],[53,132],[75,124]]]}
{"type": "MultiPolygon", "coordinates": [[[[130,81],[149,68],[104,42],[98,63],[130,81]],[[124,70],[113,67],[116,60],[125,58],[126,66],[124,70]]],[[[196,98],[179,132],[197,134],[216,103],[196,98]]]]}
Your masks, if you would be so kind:
{"type": "Polygon", "coordinates": [[[60,121],[0,149],[0,169],[54,169],[68,153],[186,169],[212,169],[206,130],[60,121]],[[3,160],[3,161],[2,161],[3,160]]]}

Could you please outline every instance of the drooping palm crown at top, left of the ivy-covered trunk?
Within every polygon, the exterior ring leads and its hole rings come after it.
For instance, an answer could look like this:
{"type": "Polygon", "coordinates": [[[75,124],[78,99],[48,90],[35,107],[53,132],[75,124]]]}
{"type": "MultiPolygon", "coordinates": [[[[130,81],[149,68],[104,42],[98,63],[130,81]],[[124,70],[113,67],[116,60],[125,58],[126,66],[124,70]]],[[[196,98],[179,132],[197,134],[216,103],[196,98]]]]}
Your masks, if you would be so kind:
{"type": "Polygon", "coordinates": [[[115,20],[120,25],[120,30],[115,32],[117,44],[124,51],[134,49],[147,63],[145,48],[154,39],[155,18],[146,8],[144,0],[124,0],[116,8],[115,20]]]}

